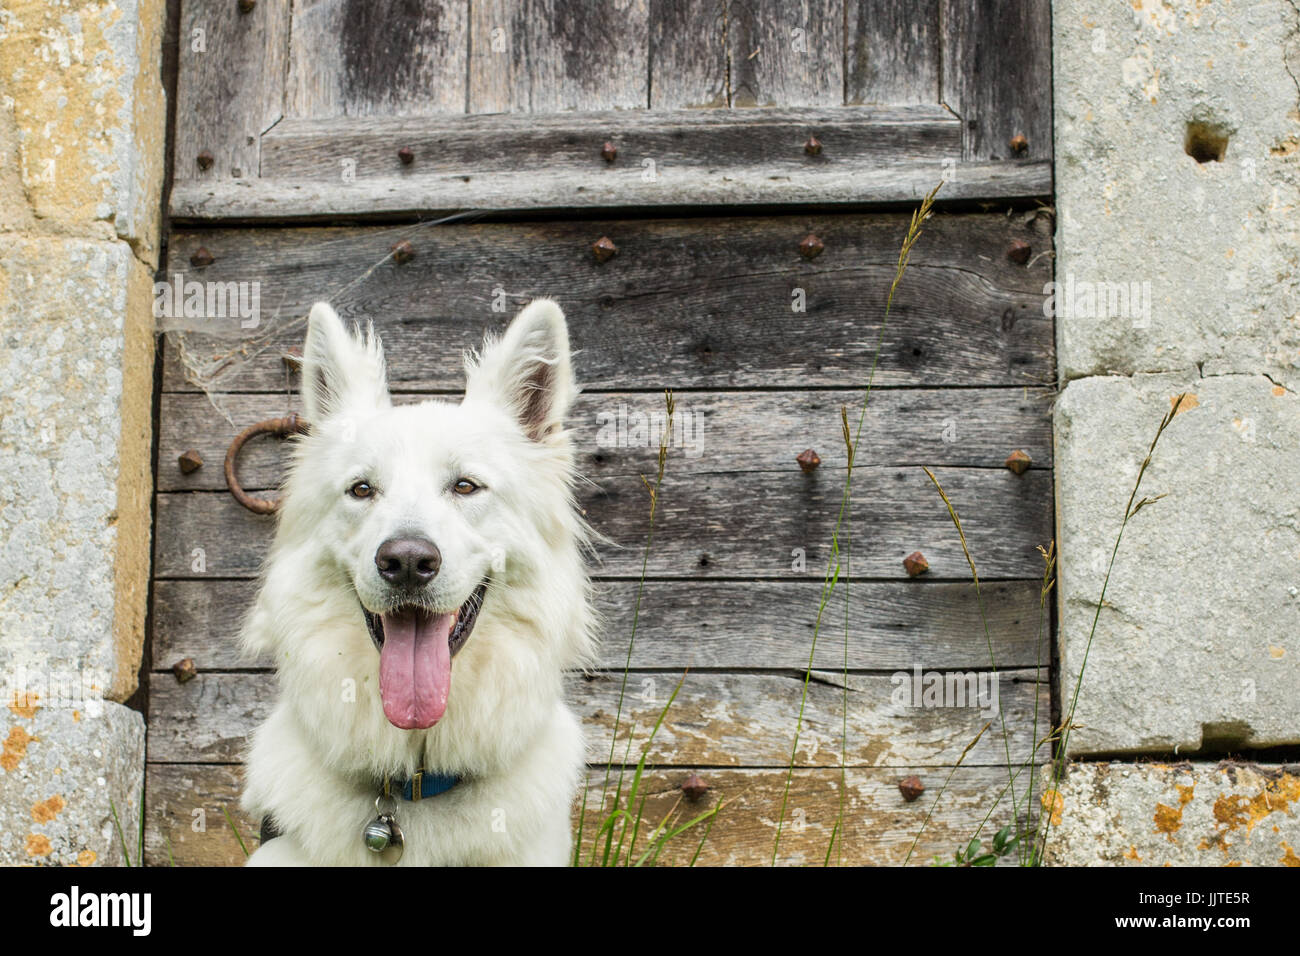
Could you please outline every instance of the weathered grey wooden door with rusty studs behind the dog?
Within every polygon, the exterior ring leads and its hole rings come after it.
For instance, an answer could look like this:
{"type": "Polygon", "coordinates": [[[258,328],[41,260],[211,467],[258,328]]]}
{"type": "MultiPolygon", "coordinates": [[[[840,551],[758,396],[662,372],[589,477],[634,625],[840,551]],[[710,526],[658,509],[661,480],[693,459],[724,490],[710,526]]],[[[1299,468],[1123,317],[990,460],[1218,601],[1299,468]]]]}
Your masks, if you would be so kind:
{"type": "MultiPolygon", "coordinates": [[[[630,722],[634,761],[690,667],[650,749],[649,813],[703,777],[731,800],[708,862],[771,860],[845,477],[841,407],[855,415],[879,343],[780,858],[820,862],[842,797],[836,857],[901,862],[930,800],[904,801],[900,780],[937,792],[988,721],[892,701],[900,672],[991,669],[920,466],[961,514],[1001,672],[1005,741],[994,719],[913,860],[965,845],[1050,722],[1048,17],[1046,0],[185,0],[165,276],[257,284],[260,311],[164,320],[150,861],[238,862],[224,810],[255,840],[239,754],[274,678],[233,639],[272,522],[231,499],[220,462],[237,431],[298,408],[294,350],[320,298],[374,320],[399,401],[455,394],[450,356],[528,299],[564,307],[581,505],[618,545],[594,568],[601,667],[571,679],[594,753],[610,752],[656,455],[602,442],[601,423],[672,389],[698,425],[697,447],[688,433],[670,451],[615,749],[630,722]],[[910,211],[940,179],[885,325],[910,211]],[[612,256],[593,252],[602,238],[612,256]],[[1017,449],[1023,473],[1004,466],[1017,449]],[[183,471],[188,450],[205,464],[183,471]],[[909,578],[918,550],[930,571],[909,578]]],[[[265,442],[240,475],[270,489],[281,468],[265,442]]],[[[1010,818],[1004,799],[993,821],[1010,818]]]]}

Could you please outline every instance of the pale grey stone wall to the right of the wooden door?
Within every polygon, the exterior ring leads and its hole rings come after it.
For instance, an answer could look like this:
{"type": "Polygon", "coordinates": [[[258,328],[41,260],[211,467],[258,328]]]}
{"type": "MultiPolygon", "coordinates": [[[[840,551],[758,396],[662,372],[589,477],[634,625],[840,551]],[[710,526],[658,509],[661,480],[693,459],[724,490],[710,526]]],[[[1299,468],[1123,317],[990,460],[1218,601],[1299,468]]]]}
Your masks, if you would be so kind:
{"type": "Polygon", "coordinates": [[[1070,750],[1200,761],[1076,765],[1053,860],[1295,862],[1294,796],[1227,856],[1216,812],[1294,777],[1214,767],[1300,744],[1300,7],[1057,0],[1053,68],[1070,750]]]}

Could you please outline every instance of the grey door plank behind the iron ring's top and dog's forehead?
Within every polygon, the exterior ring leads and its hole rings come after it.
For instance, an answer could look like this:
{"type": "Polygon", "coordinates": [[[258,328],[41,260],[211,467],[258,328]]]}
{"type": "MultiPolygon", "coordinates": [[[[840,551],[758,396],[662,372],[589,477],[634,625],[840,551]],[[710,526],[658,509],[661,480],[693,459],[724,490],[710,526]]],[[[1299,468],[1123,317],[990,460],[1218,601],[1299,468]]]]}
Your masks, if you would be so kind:
{"type": "MultiPolygon", "coordinates": [[[[881,389],[872,392],[862,425],[859,464],[998,467],[1022,449],[1030,467],[1052,466],[1050,389],[881,389]]],[[[400,394],[398,405],[426,395],[400,394]]],[[[456,395],[436,395],[459,401],[456,395]]],[[[300,412],[298,394],[218,395],[231,425],[204,395],[165,393],[159,414],[160,492],[225,490],[221,463],[230,440],[263,419],[300,412]],[[204,467],[186,475],[179,455],[196,450],[204,467]]],[[[845,392],[677,393],[671,436],[672,471],[789,471],[803,449],[824,464],[848,459],[841,437],[841,407],[854,428],[862,398],[845,392]]],[[[654,473],[663,423],[663,398],[646,393],[597,393],[578,397],[569,428],[580,475],[601,479],[654,473]],[[653,428],[647,424],[655,421],[653,428]]],[[[239,458],[246,490],[276,488],[289,462],[278,441],[255,441],[239,458]]]]}

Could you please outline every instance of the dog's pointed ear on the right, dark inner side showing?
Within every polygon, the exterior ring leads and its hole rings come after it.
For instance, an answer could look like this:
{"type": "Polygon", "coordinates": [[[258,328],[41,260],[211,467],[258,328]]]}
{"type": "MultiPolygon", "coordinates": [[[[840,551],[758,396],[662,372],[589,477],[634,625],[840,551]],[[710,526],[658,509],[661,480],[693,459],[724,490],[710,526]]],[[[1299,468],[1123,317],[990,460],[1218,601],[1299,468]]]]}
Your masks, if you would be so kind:
{"type": "Polygon", "coordinates": [[[530,302],[465,360],[465,401],[504,405],[533,441],[564,427],[576,394],[564,312],[550,299],[530,302]]]}

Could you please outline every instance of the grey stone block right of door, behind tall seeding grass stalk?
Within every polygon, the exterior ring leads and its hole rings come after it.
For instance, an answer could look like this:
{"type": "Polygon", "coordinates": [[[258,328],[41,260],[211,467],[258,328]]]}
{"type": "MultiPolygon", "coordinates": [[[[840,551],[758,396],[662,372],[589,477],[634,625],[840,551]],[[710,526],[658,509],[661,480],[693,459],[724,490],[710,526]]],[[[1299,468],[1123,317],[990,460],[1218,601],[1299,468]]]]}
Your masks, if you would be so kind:
{"type": "Polygon", "coordinates": [[[1222,754],[1300,743],[1300,397],[1264,376],[1096,377],[1057,402],[1061,688],[1088,643],[1071,753],[1222,754]]]}

